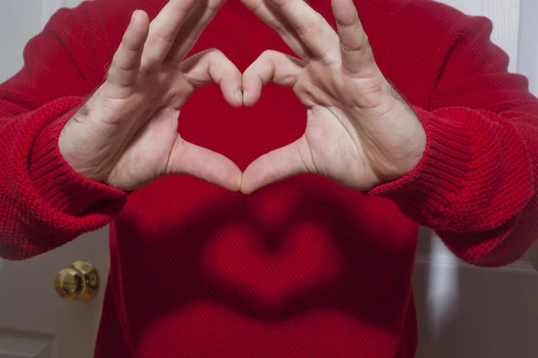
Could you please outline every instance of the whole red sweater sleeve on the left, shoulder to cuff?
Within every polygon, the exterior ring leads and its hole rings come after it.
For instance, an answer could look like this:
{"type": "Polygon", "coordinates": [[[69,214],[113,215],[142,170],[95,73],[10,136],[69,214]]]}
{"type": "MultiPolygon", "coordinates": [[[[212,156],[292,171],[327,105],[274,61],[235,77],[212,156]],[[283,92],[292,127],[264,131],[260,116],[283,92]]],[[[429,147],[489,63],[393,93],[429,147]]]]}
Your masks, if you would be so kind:
{"type": "Polygon", "coordinates": [[[94,47],[96,7],[85,2],[55,13],[25,47],[22,70],[0,85],[4,259],[30,258],[105,226],[126,202],[125,192],[76,174],[57,147],[66,121],[104,79],[98,57],[113,55],[94,47]]]}

